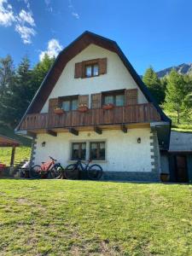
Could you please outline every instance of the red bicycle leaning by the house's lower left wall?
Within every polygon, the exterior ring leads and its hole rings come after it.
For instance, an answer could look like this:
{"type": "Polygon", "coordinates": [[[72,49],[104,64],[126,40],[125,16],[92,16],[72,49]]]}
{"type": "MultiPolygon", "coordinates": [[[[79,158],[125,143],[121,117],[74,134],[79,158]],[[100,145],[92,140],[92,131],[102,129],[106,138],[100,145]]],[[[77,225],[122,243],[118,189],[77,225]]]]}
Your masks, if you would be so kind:
{"type": "Polygon", "coordinates": [[[41,166],[32,166],[30,169],[30,177],[32,178],[60,178],[62,176],[63,168],[57,160],[49,156],[50,160],[42,162],[41,166]]]}

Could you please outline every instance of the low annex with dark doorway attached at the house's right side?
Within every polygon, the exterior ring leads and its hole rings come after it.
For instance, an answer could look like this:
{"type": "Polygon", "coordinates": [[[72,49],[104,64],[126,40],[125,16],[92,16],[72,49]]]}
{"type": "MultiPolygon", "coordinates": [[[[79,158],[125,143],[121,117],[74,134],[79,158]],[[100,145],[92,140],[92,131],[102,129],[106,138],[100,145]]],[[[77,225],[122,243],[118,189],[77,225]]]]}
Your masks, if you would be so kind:
{"type": "Polygon", "coordinates": [[[173,183],[192,183],[192,133],[172,131],[170,147],[161,152],[161,173],[173,183]]]}

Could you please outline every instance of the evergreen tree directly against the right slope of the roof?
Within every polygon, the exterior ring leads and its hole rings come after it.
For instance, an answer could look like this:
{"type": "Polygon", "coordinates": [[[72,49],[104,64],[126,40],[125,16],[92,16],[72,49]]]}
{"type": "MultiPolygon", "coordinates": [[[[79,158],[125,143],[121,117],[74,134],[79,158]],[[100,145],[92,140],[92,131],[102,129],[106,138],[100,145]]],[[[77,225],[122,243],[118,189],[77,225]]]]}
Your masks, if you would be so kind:
{"type": "Polygon", "coordinates": [[[154,72],[153,67],[149,67],[143,75],[143,83],[148,86],[152,96],[157,103],[161,104],[165,99],[165,91],[160,83],[160,79],[154,72]]]}

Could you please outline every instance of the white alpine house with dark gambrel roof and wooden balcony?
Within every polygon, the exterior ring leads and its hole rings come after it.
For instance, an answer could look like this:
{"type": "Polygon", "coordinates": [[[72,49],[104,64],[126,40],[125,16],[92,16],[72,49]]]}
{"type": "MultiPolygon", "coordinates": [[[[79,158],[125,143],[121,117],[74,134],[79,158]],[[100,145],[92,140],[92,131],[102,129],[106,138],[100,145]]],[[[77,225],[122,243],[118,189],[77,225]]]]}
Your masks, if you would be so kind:
{"type": "Polygon", "coordinates": [[[91,159],[103,179],[157,182],[170,127],[118,44],[84,32],[57,56],[15,131],[34,139],[31,165],[91,159]]]}

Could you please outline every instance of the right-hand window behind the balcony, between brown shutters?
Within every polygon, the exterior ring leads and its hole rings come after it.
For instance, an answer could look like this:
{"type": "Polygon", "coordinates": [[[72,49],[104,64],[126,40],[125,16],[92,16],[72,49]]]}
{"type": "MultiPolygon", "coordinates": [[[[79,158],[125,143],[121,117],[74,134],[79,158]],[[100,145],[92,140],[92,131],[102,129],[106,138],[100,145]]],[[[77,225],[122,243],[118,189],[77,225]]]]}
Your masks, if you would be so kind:
{"type": "Polygon", "coordinates": [[[114,104],[115,106],[124,106],[125,105],[125,94],[124,92],[108,92],[103,95],[104,104],[114,104]]]}

